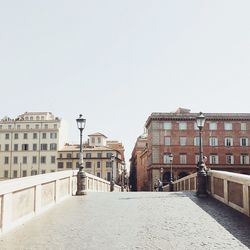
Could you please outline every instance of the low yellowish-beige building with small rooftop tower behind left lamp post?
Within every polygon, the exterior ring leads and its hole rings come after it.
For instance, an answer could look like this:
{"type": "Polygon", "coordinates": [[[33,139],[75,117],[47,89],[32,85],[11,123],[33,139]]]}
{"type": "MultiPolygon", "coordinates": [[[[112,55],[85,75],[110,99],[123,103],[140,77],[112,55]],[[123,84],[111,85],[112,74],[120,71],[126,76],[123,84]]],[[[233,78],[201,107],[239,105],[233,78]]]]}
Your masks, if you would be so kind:
{"type": "MultiPolygon", "coordinates": [[[[58,151],[58,170],[77,169],[79,165],[79,144],[65,144],[58,151]]],[[[84,171],[110,181],[112,176],[111,156],[114,155],[113,177],[120,183],[124,170],[124,147],[118,141],[108,141],[101,133],[88,136],[83,145],[84,171]]]]}

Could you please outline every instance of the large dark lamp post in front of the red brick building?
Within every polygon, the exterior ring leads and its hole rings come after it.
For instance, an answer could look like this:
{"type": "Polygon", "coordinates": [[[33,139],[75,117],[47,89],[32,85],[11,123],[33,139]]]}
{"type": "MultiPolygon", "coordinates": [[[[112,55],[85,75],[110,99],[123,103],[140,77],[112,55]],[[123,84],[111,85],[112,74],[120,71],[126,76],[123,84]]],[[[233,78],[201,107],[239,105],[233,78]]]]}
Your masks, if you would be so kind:
{"type": "Polygon", "coordinates": [[[202,148],[202,138],[201,131],[205,124],[205,116],[202,112],[196,117],[196,124],[199,128],[199,162],[197,163],[197,196],[204,197],[207,196],[207,173],[205,171],[205,163],[203,159],[203,148],[202,148]]]}

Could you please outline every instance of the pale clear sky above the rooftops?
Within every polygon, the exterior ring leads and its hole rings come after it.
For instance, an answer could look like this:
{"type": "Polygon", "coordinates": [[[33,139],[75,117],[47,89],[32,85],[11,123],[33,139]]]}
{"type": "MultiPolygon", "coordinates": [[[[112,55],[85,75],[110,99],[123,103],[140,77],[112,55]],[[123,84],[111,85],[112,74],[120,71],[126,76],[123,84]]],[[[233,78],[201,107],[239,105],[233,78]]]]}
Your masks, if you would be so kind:
{"type": "Polygon", "coordinates": [[[250,1],[0,2],[0,116],[51,111],[123,142],[152,112],[250,112],[250,1]]]}

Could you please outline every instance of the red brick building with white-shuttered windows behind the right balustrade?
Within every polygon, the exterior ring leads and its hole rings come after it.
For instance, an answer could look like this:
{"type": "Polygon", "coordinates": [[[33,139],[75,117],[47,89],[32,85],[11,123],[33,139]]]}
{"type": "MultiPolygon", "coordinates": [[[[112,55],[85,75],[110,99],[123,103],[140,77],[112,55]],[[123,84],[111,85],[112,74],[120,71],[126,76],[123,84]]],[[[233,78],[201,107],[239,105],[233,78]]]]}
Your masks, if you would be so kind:
{"type": "MultiPolygon", "coordinates": [[[[157,179],[164,184],[196,172],[199,159],[197,113],[179,108],[173,113],[152,113],[147,122],[149,190],[157,179]],[[171,164],[169,155],[173,154],[171,164]],[[172,165],[172,166],[171,166],[172,165]]],[[[250,114],[206,113],[202,130],[207,167],[250,174],[250,114]]]]}

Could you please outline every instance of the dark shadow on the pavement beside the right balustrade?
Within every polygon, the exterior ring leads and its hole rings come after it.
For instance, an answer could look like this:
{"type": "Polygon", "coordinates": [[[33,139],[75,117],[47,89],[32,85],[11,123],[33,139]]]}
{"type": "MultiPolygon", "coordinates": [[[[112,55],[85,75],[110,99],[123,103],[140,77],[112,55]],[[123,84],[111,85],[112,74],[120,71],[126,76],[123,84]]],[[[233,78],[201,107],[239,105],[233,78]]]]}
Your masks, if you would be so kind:
{"type": "Polygon", "coordinates": [[[194,193],[187,193],[187,196],[242,244],[250,248],[250,218],[248,216],[212,197],[198,198],[194,193]]]}

